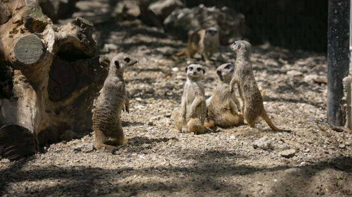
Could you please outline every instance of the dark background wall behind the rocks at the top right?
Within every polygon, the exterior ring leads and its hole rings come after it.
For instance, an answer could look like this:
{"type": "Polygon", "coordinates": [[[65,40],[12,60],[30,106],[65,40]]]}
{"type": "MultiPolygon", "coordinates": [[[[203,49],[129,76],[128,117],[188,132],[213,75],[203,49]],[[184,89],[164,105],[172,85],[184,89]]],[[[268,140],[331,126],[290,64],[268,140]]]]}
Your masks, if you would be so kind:
{"type": "MultiPolygon", "coordinates": [[[[182,0],[187,7],[227,6],[241,12],[253,44],[326,52],[328,0],[182,0]]],[[[349,17],[349,16],[346,16],[349,17]]]]}

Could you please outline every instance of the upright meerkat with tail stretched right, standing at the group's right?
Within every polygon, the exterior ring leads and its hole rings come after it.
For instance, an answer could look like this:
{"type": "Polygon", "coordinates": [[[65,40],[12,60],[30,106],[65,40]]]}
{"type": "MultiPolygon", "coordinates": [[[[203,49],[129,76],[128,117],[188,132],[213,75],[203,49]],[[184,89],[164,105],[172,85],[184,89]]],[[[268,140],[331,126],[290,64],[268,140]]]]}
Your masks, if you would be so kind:
{"type": "Polygon", "coordinates": [[[242,114],[246,123],[250,127],[255,127],[255,120],[262,117],[274,131],[290,132],[277,128],[270,120],[263,105],[263,96],[258,89],[257,81],[254,78],[252,65],[250,62],[251,45],[244,40],[236,41],[230,48],[237,53],[235,71],[230,81],[230,92],[234,92],[237,83],[240,97],[243,101],[242,114]]]}

